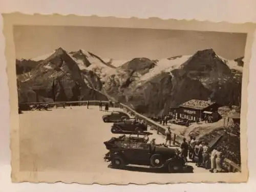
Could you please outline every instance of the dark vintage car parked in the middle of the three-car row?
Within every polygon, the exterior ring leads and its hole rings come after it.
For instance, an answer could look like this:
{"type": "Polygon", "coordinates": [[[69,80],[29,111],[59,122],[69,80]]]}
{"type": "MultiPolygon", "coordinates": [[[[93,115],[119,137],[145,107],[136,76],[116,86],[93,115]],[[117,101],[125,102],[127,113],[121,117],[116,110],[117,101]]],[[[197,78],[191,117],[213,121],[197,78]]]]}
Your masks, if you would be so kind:
{"type": "Polygon", "coordinates": [[[145,123],[141,123],[136,119],[127,119],[123,122],[116,122],[111,127],[111,133],[115,134],[124,134],[124,133],[143,133],[147,131],[147,125],[145,123]]]}

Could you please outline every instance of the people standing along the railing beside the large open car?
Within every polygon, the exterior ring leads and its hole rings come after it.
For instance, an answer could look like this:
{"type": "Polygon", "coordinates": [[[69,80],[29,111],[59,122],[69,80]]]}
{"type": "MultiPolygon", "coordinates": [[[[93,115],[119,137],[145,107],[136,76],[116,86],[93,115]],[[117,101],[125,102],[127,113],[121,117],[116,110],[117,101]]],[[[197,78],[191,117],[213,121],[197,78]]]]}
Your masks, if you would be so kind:
{"type": "MultiPolygon", "coordinates": [[[[171,146],[172,132],[170,127],[167,127],[165,132],[164,145],[171,146]]],[[[207,142],[197,141],[194,136],[190,136],[189,141],[183,138],[183,142],[180,144],[181,155],[185,162],[188,162],[189,158],[192,162],[195,162],[198,167],[209,169],[210,172],[223,172],[222,161],[223,155],[220,147],[215,147],[211,152],[207,142]]]]}

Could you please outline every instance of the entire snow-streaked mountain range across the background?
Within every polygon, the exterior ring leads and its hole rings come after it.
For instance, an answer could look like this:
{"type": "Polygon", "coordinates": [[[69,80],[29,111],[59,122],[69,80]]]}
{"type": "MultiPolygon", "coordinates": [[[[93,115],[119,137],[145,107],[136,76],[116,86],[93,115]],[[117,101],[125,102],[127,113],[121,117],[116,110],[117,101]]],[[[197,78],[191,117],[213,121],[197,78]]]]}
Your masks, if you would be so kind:
{"type": "Polygon", "coordinates": [[[239,105],[242,71],[243,57],[227,60],[212,49],[160,60],[114,60],[58,48],[16,59],[19,102],[112,98],[146,115],[166,113],[190,99],[239,105]]]}

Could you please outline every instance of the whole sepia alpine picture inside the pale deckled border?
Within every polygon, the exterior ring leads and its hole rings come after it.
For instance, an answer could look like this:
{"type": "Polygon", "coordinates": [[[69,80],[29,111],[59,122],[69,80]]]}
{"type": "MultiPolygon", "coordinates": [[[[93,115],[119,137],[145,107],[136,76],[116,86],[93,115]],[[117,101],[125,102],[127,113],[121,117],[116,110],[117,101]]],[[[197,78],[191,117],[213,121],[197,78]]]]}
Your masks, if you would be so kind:
{"type": "Polygon", "coordinates": [[[105,184],[247,175],[246,40],[239,32],[13,26],[18,171],[105,184]]]}

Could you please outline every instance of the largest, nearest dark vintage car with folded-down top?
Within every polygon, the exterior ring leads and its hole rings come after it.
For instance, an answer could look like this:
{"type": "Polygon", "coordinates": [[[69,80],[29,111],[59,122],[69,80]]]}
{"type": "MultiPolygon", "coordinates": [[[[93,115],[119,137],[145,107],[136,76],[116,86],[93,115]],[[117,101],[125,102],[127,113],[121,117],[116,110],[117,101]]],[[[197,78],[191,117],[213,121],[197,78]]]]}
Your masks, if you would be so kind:
{"type": "Polygon", "coordinates": [[[113,168],[121,169],[134,164],[164,168],[169,173],[178,173],[186,166],[179,150],[157,146],[153,142],[131,142],[112,138],[104,144],[109,150],[104,161],[111,162],[113,168]]]}

